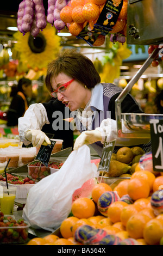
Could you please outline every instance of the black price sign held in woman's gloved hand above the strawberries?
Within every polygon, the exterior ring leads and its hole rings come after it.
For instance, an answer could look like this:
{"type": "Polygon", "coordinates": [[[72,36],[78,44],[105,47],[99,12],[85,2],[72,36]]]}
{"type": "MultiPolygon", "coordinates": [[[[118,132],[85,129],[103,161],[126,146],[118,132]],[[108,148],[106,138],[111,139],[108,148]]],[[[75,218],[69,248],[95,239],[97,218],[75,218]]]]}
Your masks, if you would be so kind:
{"type": "Polygon", "coordinates": [[[50,139],[51,145],[41,145],[40,150],[38,154],[35,157],[35,160],[39,160],[41,163],[43,163],[46,167],[48,167],[48,162],[51,157],[52,150],[54,148],[54,145],[56,141],[50,139]]]}

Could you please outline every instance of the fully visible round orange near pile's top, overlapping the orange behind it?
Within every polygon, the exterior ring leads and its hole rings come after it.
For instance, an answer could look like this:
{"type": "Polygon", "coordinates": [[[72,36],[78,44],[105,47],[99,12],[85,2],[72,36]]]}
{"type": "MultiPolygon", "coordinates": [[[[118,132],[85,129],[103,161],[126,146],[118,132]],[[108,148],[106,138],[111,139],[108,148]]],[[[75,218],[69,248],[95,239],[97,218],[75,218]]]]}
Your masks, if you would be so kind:
{"type": "Polygon", "coordinates": [[[150,192],[149,184],[143,179],[130,179],[127,192],[129,197],[131,197],[133,200],[147,198],[150,192]]]}

